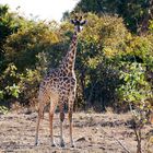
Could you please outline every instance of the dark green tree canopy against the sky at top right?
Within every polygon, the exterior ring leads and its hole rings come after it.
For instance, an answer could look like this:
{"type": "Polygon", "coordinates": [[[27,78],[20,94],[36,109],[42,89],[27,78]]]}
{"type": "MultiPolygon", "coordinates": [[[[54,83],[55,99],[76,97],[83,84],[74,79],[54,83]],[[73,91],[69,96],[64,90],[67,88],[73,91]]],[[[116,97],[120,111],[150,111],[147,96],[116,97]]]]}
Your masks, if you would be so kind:
{"type": "Polygon", "coordinates": [[[145,32],[153,20],[153,0],[81,0],[74,11],[118,14],[131,32],[145,32]]]}

